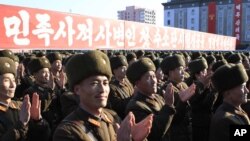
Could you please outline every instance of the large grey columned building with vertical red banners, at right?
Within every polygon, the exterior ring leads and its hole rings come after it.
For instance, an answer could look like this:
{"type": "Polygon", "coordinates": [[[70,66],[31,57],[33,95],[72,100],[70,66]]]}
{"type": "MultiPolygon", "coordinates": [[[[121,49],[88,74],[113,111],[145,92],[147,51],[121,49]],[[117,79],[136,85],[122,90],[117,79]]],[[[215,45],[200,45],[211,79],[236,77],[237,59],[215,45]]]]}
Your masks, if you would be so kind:
{"type": "Polygon", "coordinates": [[[171,0],[163,3],[164,25],[234,36],[250,44],[250,0],[171,0]]]}

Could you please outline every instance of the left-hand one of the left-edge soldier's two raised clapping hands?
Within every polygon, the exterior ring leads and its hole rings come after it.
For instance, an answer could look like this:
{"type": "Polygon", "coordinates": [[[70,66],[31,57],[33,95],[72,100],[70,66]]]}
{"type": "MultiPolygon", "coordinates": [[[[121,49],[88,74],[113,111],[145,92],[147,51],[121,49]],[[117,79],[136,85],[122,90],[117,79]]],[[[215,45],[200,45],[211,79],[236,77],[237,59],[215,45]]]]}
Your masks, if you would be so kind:
{"type": "Polygon", "coordinates": [[[23,104],[21,106],[21,110],[19,113],[19,120],[23,123],[23,125],[27,125],[30,120],[30,98],[29,95],[24,96],[23,104]]]}

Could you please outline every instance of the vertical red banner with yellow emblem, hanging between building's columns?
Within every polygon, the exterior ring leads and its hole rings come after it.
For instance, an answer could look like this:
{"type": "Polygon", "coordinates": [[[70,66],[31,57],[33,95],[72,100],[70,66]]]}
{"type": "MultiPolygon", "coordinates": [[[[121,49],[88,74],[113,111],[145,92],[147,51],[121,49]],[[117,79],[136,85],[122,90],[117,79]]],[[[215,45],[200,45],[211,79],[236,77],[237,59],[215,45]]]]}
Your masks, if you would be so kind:
{"type": "Polygon", "coordinates": [[[216,33],[216,3],[208,4],[208,33],[216,33]]]}

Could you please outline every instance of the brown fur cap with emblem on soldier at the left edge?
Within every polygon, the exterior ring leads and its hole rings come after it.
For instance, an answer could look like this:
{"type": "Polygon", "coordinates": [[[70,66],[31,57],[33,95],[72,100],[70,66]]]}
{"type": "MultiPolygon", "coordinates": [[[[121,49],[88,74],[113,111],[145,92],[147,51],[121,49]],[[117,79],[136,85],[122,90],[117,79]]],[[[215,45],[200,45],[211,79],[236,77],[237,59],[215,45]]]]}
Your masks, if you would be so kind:
{"type": "Polygon", "coordinates": [[[0,75],[5,73],[12,73],[16,76],[15,62],[8,57],[0,57],[0,75]]]}

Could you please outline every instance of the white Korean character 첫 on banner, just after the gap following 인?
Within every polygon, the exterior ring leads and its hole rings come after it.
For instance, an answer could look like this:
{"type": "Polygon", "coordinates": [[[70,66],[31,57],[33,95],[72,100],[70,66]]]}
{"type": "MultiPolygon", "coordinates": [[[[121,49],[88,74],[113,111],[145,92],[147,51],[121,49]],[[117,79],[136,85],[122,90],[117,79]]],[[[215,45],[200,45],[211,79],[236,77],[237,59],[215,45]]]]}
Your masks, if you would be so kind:
{"type": "Polygon", "coordinates": [[[140,32],[140,43],[142,44],[143,48],[150,48],[150,34],[148,27],[142,27],[142,31],[140,32]]]}

